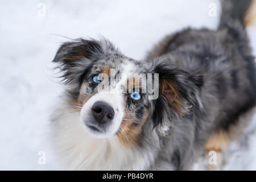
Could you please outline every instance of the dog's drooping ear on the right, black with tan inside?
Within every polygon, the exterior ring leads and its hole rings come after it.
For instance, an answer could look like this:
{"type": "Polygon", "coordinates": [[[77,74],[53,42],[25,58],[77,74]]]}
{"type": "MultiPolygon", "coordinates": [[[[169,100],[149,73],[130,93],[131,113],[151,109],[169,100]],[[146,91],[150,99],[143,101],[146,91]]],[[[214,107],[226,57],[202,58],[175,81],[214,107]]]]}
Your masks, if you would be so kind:
{"type": "Polygon", "coordinates": [[[159,74],[159,97],[154,101],[155,110],[152,115],[155,126],[162,124],[167,113],[170,115],[166,117],[177,118],[189,114],[192,107],[203,107],[200,100],[203,76],[173,68],[167,61],[155,63],[154,72],[159,74]]]}

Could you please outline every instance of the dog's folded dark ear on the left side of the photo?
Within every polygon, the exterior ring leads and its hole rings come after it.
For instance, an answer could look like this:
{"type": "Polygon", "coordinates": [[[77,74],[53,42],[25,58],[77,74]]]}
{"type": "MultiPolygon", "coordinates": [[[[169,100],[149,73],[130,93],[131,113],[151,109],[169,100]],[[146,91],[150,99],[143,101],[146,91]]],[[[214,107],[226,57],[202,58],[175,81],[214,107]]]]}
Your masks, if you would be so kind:
{"type": "Polygon", "coordinates": [[[106,39],[75,39],[61,45],[53,62],[58,64],[65,84],[77,84],[81,82],[86,69],[114,49],[106,39]]]}

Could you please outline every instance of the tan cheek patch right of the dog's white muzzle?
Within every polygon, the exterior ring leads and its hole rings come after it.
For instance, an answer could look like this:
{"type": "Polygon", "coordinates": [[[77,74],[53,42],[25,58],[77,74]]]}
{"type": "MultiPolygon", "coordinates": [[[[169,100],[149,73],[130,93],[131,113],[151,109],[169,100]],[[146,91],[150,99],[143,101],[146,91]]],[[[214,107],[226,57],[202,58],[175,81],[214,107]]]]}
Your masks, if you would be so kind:
{"type": "Polygon", "coordinates": [[[119,141],[123,144],[123,146],[136,146],[141,141],[141,130],[144,123],[147,121],[149,115],[149,111],[144,113],[142,122],[138,126],[134,126],[134,116],[128,113],[127,109],[125,110],[125,115],[121,122],[121,126],[119,128],[119,133],[117,135],[119,141]]]}

